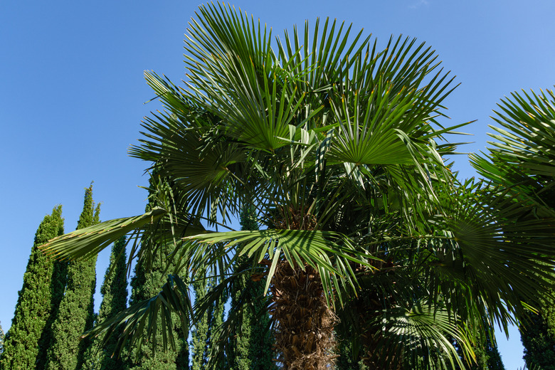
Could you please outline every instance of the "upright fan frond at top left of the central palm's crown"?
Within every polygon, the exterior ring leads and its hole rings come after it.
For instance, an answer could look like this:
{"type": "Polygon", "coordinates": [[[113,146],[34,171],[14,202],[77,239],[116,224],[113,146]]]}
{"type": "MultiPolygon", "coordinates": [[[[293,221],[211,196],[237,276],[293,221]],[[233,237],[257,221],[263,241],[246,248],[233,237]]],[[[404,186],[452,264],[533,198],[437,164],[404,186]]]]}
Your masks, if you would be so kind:
{"type": "Polygon", "coordinates": [[[280,137],[287,137],[288,125],[300,124],[296,112],[304,95],[295,92],[300,80],[279,65],[269,45],[270,32],[260,21],[207,6],[189,24],[187,83],[190,99],[221,117],[228,135],[273,151],[287,144],[280,137]]]}

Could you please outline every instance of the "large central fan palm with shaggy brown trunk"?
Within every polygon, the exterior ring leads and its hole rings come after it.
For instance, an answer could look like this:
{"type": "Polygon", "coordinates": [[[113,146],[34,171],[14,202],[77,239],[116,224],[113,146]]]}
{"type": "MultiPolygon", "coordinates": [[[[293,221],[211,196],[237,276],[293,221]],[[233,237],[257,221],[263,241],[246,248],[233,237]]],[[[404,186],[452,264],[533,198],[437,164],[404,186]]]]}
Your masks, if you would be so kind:
{"type": "MultiPolygon", "coordinates": [[[[201,6],[185,87],[146,73],[166,110],[146,119],[130,154],[169,180],[155,186],[157,208],[43,248],[86,258],[144,232],[129,261],[173,243],[164,257],[178,270],[221,281],[192,307],[190,282],[169,275],[159,295],[93,332],[124,327],[120,347],[144,327],[155,333],[157,315],[194,322],[247,275],[265,282],[285,369],[328,369],[335,334],[376,369],[462,366],[451,339],[472,360],[475,328],[507,325],[542,291],[527,279],[553,257],[544,223],[515,226],[522,204],[459,184],[443,162],[456,147],[443,134],[464,124],[436,120],[453,80],[423,43],[390,38],[381,50],[329,20],[274,44],[271,33],[231,7],[201,6]],[[233,231],[231,217],[250,207],[260,230],[233,231]]],[[[234,324],[232,315],[219,327],[213,361],[234,324]]]]}

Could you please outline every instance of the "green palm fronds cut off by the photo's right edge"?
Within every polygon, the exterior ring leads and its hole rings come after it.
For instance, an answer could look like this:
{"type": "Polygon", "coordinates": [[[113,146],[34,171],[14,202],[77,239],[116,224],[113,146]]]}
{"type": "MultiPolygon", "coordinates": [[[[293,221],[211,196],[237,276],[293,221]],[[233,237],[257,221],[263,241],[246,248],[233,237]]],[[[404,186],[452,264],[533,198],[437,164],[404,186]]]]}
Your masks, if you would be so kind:
{"type": "Polygon", "coordinates": [[[512,93],[498,105],[490,126],[497,142],[490,154],[472,156],[476,170],[497,184],[513,186],[519,199],[535,203],[534,215],[555,216],[555,95],[552,90],[512,93]]]}

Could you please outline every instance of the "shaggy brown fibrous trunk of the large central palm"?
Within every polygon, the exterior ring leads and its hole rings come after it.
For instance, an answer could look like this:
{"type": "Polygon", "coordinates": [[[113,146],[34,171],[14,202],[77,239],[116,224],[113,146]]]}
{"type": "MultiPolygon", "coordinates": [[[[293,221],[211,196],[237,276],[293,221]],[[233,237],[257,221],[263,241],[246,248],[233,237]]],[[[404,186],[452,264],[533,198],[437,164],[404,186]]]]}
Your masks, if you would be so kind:
{"type": "Polygon", "coordinates": [[[273,276],[275,347],[287,370],[323,370],[333,362],[336,318],[326,304],[322,281],[309,265],[304,270],[287,261],[273,276]]]}

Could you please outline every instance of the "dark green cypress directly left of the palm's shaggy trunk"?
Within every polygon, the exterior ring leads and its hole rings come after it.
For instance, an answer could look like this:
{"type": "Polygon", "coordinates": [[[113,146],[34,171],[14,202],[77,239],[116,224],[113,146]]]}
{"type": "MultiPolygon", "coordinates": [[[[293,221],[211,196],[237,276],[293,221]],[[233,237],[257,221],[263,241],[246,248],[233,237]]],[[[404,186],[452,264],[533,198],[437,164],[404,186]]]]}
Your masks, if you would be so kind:
{"type": "MultiPolygon", "coordinates": [[[[246,207],[240,214],[241,230],[258,230],[254,208],[246,207]]],[[[243,270],[251,263],[243,258],[238,269],[243,270]]],[[[264,296],[262,281],[252,281],[243,275],[233,285],[231,310],[241,310],[238,332],[230,338],[228,364],[232,370],[275,369],[273,342],[268,330],[270,317],[265,311],[261,298],[264,296]],[[252,305],[243,305],[241,297],[260,297],[252,305]],[[243,307],[241,307],[243,306],[243,307]]]]}

